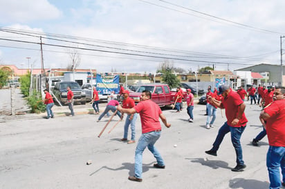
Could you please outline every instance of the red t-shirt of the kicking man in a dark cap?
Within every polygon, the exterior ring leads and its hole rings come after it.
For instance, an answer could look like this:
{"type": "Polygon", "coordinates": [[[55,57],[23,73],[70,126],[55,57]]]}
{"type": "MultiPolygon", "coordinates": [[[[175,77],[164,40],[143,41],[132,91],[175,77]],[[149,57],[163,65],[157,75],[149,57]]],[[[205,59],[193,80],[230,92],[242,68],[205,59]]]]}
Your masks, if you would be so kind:
{"type": "Polygon", "coordinates": [[[237,115],[239,115],[239,106],[241,103],[243,103],[241,97],[239,97],[237,92],[232,91],[232,89],[230,89],[228,96],[223,98],[221,101],[221,105],[226,110],[226,117],[228,119],[227,123],[231,127],[239,128],[241,126],[246,126],[246,123],[248,122],[248,119],[246,119],[246,115],[243,112],[241,119],[239,119],[239,123],[237,123],[236,126],[232,126],[232,121],[237,118],[237,115]]]}

